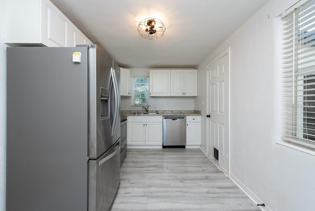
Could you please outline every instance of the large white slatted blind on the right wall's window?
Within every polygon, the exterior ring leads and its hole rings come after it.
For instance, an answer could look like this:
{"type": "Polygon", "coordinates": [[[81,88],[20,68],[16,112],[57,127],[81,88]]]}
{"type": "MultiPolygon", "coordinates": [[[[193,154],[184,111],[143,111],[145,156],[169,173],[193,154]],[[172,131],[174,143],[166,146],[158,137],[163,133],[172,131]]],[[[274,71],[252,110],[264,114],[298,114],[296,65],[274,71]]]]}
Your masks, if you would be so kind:
{"type": "Polygon", "coordinates": [[[315,0],[286,11],[282,88],[283,139],[315,148],[315,0]]]}

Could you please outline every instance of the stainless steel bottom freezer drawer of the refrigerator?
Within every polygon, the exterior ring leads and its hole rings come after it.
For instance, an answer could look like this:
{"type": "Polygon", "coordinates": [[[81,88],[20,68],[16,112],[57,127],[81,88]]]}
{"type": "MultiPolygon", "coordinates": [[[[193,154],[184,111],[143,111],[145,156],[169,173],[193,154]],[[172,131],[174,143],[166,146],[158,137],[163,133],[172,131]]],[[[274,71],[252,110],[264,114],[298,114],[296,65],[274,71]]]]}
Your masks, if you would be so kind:
{"type": "Polygon", "coordinates": [[[109,211],[120,182],[120,140],[96,160],[89,160],[89,211],[109,211]]]}

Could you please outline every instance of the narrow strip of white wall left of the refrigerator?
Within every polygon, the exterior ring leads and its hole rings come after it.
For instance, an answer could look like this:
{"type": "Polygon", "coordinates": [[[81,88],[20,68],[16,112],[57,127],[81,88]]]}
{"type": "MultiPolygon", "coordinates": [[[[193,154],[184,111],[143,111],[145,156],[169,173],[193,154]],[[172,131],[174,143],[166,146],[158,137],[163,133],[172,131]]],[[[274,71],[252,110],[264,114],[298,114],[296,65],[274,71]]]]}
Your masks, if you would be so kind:
{"type": "Polygon", "coordinates": [[[6,173],[6,50],[4,44],[4,0],[0,0],[0,211],[5,211],[6,173]]]}

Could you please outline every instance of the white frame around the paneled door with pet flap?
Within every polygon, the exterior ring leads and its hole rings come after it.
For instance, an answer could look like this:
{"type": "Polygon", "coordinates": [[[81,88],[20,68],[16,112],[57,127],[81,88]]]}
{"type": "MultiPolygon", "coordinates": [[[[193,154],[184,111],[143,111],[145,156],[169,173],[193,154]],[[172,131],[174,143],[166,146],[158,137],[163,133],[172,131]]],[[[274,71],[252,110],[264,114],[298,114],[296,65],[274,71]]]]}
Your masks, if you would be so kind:
{"type": "MultiPolygon", "coordinates": [[[[227,99],[225,99],[225,102],[227,102],[227,110],[228,110],[228,116],[227,116],[227,141],[228,141],[228,169],[227,169],[227,172],[226,172],[226,176],[230,176],[230,170],[231,170],[231,143],[230,143],[230,83],[231,83],[231,80],[230,80],[230,70],[231,70],[231,66],[230,66],[230,63],[231,63],[231,47],[228,47],[227,49],[225,49],[224,51],[222,51],[217,57],[215,57],[213,60],[211,60],[207,65],[206,65],[206,70],[207,70],[207,91],[206,91],[206,112],[207,114],[210,113],[209,111],[209,100],[210,100],[210,93],[209,93],[209,67],[211,67],[212,64],[214,64],[215,62],[217,62],[219,59],[221,59],[222,57],[224,56],[227,56],[227,90],[228,90],[228,96],[227,96],[227,99]]],[[[208,118],[206,118],[207,121],[206,121],[206,152],[207,152],[207,155],[208,157],[212,160],[212,162],[222,171],[221,167],[220,167],[220,164],[215,162],[215,160],[213,159],[213,155],[209,155],[209,146],[210,146],[210,131],[209,131],[209,121],[208,121],[208,118]]],[[[222,171],[223,172],[223,171],[222,171]]]]}

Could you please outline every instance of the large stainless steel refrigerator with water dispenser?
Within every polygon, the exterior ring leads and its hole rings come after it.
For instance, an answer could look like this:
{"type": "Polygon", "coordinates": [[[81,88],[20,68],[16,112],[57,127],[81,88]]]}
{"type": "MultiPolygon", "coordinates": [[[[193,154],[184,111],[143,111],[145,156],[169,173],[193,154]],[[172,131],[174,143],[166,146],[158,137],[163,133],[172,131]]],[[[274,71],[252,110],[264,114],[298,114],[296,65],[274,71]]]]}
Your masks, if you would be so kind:
{"type": "Polygon", "coordinates": [[[102,48],[7,48],[7,211],[107,211],[120,182],[120,68],[102,48]]]}

